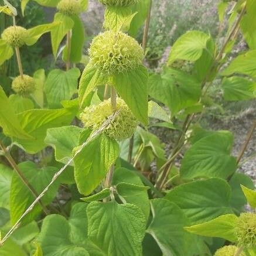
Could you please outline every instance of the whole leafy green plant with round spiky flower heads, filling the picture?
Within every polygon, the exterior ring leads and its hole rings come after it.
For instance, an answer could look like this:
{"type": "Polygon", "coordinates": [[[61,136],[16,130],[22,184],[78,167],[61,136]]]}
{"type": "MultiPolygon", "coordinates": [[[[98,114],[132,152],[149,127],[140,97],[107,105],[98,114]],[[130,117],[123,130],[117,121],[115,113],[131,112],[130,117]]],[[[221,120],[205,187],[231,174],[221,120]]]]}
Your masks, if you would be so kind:
{"type": "MultiPolygon", "coordinates": [[[[163,70],[148,74],[151,1],[100,1],[105,31],[93,39],[80,74],[78,13],[87,1],[34,1],[57,7],[54,21],[21,29],[19,37],[16,9],[7,1],[0,7],[15,31],[0,40],[0,63],[15,51],[19,67],[16,94],[7,97],[0,87],[0,254],[254,255],[255,213],[244,206],[255,211],[256,192],[237,169],[256,122],[235,158],[233,134],[203,129],[199,120],[214,104],[209,88],[216,79],[227,101],[255,98],[255,28],[245,24],[254,20],[256,2],[235,3],[224,42],[189,31],[163,70]],[[131,35],[143,22],[141,47],[131,35]],[[227,63],[240,28],[250,50],[227,63]],[[29,77],[20,48],[47,32],[54,57],[66,39],[66,70],[29,77]],[[153,126],[176,131],[169,156],[153,126]],[[17,151],[35,161],[19,161],[17,151]]],[[[228,6],[220,2],[220,20],[228,6]]]]}

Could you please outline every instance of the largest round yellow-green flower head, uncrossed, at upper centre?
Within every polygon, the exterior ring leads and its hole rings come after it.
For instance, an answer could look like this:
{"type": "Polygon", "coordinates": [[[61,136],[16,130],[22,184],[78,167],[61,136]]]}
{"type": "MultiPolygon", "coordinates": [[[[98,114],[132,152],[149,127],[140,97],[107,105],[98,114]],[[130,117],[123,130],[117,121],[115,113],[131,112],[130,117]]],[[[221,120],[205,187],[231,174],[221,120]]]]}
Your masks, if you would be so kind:
{"type": "Polygon", "coordinates": [[[133,70],[143,59],[142,47],[134,38],[113,31],[94,37],[89,54],[91,63],[108,74],[133,70]]]}

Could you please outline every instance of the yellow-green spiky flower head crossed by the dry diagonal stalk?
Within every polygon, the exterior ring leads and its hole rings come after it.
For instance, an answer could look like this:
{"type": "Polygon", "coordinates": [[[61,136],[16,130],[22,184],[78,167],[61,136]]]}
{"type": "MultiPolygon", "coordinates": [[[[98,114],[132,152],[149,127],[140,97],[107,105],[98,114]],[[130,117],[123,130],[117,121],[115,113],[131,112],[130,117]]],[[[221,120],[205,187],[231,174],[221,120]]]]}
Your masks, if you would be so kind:
{"type": "MultiPolygon", "coordinates": [[[[104,129],[104,133],[116,141],[131,138],[134,134],[138,121],[129,110],[127,104],[121,99],[117,98],[118,114],[115,119],[104,129]]],[[[91,105],[86,107],[81,113],[80,118],[84,126],[93,131],[103,125],[103,123],[113,113],[111,101],[105,100],[98,105],[91,105]]]]}

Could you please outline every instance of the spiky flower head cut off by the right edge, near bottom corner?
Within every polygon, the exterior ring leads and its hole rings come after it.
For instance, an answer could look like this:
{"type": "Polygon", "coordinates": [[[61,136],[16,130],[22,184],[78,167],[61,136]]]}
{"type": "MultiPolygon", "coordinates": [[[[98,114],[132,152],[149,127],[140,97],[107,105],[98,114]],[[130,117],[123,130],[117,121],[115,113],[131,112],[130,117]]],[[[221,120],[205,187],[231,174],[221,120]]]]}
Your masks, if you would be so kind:
{"type": "Polygon", "coordinates": [[[235,227],[235,237],[238,245],[253,247],[256,245],[256,214],[241,213],[235,227]]]}

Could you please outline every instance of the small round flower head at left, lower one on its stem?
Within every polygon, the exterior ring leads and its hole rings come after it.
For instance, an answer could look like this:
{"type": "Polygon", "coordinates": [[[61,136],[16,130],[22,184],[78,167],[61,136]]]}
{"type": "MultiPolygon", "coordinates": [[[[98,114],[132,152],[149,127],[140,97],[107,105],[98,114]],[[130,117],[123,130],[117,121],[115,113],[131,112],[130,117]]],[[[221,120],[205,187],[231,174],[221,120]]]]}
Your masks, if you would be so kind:
{"type": "Polygon", "coordinates": [[[12,90],[23,96],[33,93],[35,91],[35,80],[26,74],[23,75],[23,78],[18,76],[12,81],[12,90]]]}

